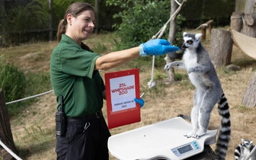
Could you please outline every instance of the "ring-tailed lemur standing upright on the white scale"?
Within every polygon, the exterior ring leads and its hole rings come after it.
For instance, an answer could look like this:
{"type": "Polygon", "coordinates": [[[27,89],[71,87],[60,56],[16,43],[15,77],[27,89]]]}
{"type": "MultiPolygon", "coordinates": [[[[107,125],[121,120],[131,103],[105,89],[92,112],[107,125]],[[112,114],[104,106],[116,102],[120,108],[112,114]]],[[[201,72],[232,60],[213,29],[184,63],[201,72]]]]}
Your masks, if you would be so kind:
{"type": "Polygon", "coordinates": [[[230,114],[229,104],[222,91],[216,70],[210,56],[200,43],[202,34],[187,34],[184,32],[182,47],[184,56],[182,61],[174,61],[165,65],[165,69],[174,67],[186,69],[190,82],[195,86],[194,107],[191,110],[191,123],[193,130],[184,136],[198,139],[206,133],[210,113],[218,103],[219,115],[222,117],[219,137],[216,143],[218,159],[225,159],[230,139],[230,114]]]}

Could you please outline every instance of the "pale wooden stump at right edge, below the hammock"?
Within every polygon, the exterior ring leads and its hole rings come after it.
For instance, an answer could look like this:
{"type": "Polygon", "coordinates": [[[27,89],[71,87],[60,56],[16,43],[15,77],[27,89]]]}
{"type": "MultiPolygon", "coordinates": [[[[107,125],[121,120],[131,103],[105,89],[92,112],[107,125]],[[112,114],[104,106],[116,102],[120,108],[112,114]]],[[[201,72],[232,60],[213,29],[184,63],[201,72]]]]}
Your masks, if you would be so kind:
{"type": "Polygon", "coordinates": [[[256,73],[253,78],[251,78],[251,82],[243,94],[242,104],[246,107],[256,106],[256,73]]]}

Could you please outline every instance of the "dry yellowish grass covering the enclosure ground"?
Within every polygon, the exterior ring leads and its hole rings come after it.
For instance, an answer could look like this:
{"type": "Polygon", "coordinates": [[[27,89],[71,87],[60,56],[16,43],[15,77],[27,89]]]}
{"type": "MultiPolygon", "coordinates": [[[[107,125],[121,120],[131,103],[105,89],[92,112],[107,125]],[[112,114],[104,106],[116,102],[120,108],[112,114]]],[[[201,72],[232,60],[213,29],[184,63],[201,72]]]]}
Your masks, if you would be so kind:
{"type": "MultiPolygon", "coordinates": [[[[189,32],[189,30],[187,30],[189,32]]],[[[210,34],[206,34],[210,35],[210,34]]],[[[203,42],[206,50],[210,50],[210,37],[203,42]]],[[[106,54],[114,50],[114,44],[118,38],[114,34],[93,34],[85,41],[95,53],[106,54]]],[[[31,43],[21,46],[11,46],[0,48],[1,56],[6,62],[13,62],[24,72],[37,73],[38,78],[43,79],[41,74],[49,74],[51,51],[57,42],[31,43]]],[[[166,84],[167,73],[163,69],[165,66],[164,57],[155,60],[154,81],[155,88],[149,89],[147,83],[151,80],[152,58],[139,58],[126,65],[104,73],[125,69],[139,68],[140,90],[146,92],[143,99],[145,106],[142,107],[139,123],[120,126],[110,130],[112,135],[133,130],[142,126],[168,120],[178,114],[190,114],[193,107],[194,86],[190,84],[187,74],[184,71],[175,70],[178,81],[173,84],[166,84]]],[[[255,60],[243,54],[235,46],[232,52],[232,63],[241,67],[237,72],[230,72],[225,67],[217,69],[223,91],[229,101],[232,123],[232,138],[229,142],[227,160],[234,159],[235,147],[241,143],[241,139],[251,139],[256,141],[256,118],[255,108],[242,106],[242,94],[248,86],[256,70],[255,60]]],[[[45,81],[45,80],[44,80],[45,81]]],[[[43,90],[43,86],[40,86],[43,90]]],[[[47,88],[49,89],[49,88],[47,88]]],[[[48,90],[47,90],[48,91],[48,90]]],[[[43,91],[42,91],[43,92],[43,91]]],[[[56,98],[52,93],[45,94],[30,106],[22,107],[17,116],[11,118],[11,130],[21,158],[24,160],[34,159],[56,159],[55,149],[55,112],[56,98]]],[[[107,117],[106,104],[104,103],[104,117],[107,117]]],[[[107,120],[107,119],[106,119],[107,120]]],[[[210,130],[219,129],[220,117],[216,108],[213,109],[210,120],[210,130]]],[[[215,149],[215,145],[211,146],[215,149]]],[[[114,160],[113,155],[110,159],[114,160]]]]}

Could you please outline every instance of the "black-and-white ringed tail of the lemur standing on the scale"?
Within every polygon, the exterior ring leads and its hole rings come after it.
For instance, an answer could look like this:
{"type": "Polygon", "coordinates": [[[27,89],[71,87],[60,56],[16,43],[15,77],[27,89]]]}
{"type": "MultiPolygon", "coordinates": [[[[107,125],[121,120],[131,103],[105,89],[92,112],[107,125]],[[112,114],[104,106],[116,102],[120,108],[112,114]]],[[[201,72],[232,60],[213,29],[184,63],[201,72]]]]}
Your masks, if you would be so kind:
{"type": "Polygon", "coordinates": [[[219,137],[216,143],[216,155],[218,155],[218,160],[224,160],[226,158],[226,152],[229,148],[229,139],[231,133],[229,104],[225,97],[225,94],[222,94],[222,98],[218,102],[218,104],[218,111],[222,120],[219,137]]]}

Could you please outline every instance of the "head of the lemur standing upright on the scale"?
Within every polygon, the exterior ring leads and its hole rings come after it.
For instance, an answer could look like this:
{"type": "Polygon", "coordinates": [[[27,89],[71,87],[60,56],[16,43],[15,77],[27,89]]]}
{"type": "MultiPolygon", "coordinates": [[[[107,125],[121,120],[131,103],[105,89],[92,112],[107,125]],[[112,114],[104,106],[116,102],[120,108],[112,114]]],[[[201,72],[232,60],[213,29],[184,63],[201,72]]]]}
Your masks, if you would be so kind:
{"type": "Polygon", "coordinates": [[[196,49],[198,44],[200,43],[200,37],[202,34],[187,34],[183,33],[184,43],[182,44],[183,48],[187,49],[196,49]]]}

